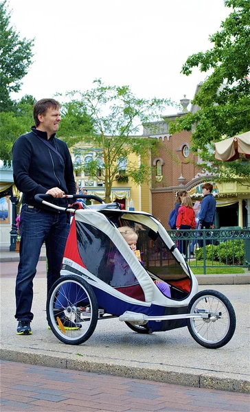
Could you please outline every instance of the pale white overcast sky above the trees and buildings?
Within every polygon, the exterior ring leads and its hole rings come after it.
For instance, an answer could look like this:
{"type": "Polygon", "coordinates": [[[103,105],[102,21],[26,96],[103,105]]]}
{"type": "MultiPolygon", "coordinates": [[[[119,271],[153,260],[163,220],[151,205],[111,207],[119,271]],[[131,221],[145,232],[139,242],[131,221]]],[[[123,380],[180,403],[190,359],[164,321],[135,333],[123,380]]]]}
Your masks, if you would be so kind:
{"type": "MultiPolygon", "coordinates": [[[[91,88],[95,78],[128,84],[141,98],[194,97],[205,73],[180,73],[229,14],[223,0],[9,0],[12,24],[35,38],[34,63],[13,98],[38,100],[91,88]]],[[[168,109],[168,113],[176,110],[168,109]]]]}

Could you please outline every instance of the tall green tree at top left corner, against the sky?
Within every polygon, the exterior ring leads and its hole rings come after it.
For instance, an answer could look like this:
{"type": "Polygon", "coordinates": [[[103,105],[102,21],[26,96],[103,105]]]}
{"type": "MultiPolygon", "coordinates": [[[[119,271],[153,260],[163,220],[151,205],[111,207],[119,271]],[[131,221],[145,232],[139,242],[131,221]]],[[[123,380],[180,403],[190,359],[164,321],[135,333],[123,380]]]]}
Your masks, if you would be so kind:
{"type": "Polygon", "coordinates": [[[21,80],[32,64],[33,40],[21,39],[10,25],[7,1],[0,3],[0,112],[12,110],[10,93],[21,89],[21,80]]]}

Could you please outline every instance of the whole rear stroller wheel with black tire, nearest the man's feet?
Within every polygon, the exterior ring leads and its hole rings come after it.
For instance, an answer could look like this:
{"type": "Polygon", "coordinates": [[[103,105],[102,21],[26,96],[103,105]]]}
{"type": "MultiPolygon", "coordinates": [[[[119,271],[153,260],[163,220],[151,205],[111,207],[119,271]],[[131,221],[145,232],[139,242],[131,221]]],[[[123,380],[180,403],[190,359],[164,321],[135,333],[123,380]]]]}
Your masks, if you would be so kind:
{"type": "Polygon", "coordinates": [[[91,285],[78,275],[60,277],[49,290],[47,319],[52,332],[63,343],[80,345],[87,341],[98,321],[98,301],[91,285]],[[60,328],[56,317],[67,317],[69,321],[78,323],[80,328],[60,328]]]}

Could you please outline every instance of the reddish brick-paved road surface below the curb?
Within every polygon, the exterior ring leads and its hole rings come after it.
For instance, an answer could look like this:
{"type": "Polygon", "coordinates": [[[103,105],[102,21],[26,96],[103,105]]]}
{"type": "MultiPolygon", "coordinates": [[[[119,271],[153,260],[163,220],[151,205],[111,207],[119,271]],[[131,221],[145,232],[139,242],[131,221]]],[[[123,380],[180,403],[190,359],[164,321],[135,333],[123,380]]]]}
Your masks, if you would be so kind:
{"type": "Polygon", "coordinates": [[[250,397],[1,361],[1,412],[249,412],[250,397]]]}

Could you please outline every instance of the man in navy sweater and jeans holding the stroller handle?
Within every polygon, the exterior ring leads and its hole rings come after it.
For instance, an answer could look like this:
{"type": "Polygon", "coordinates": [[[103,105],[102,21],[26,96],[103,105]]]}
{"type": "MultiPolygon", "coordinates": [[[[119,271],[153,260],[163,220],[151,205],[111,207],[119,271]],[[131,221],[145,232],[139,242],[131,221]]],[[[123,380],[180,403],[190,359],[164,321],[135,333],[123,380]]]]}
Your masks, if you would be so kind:
{"type": "MultiPolygon", "coordinates": [[[[16,334],[32,334],[33,279],[43,242],[47,253],[47,293],[60,277],[60,265],[69,233],[67,214],[44,209],[36,203],[38,193],[50,194],[52,202],[67,206],[64,194],[76,193],[73,165],[64,141],[55,137],[60,122],[60,104],[42,99],[34,105],[32,132],[21,135],[12,148],[14,183],[23,192],[20,230],[20,262],[16,276],[16,334]],[[48,146],[47,146],[48,145],[48,146]]],[[[64,314],[65,329],[78,329],[64,314]]]]}

